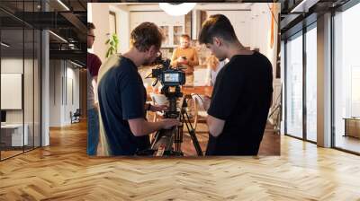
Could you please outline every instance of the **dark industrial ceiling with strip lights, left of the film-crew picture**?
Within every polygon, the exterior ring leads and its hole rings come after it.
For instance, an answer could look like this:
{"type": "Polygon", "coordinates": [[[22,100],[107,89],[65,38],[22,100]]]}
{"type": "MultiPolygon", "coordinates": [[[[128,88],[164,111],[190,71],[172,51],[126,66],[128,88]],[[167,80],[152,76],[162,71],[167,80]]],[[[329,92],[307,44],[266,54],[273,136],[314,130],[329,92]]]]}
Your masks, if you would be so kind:
{"type": "Polygon", "coordinates": [[[85,66],[86,2],[86,0],[1,0],[2,41],[10,45],[6,48],[7,54],[14,55],[16,52],[22,54],[23,49],[25,52],[33,51],[33,46],[36,47],[40,43],[40,39],[33,39],[33,30],[44,29],[62,38],[49,34],[50,59],[69,59],[85,66]]]}

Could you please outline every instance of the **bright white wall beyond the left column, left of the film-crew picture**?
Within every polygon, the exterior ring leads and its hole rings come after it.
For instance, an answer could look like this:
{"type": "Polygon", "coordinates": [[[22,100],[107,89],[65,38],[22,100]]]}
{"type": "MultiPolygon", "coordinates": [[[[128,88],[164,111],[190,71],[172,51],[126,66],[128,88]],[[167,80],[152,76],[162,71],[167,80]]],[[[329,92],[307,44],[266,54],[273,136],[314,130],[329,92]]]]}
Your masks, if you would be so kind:
{"type": "Polygon", "coordinates": [[[79,70],[64,60],[50,60],[49,82],[49,126],[69,125],[70,111],[80,107],[79,70]],[[72,87],[71,87],[72,85],[72,87]],[[74,96],[74,102],[72,97],[74,96]]]}

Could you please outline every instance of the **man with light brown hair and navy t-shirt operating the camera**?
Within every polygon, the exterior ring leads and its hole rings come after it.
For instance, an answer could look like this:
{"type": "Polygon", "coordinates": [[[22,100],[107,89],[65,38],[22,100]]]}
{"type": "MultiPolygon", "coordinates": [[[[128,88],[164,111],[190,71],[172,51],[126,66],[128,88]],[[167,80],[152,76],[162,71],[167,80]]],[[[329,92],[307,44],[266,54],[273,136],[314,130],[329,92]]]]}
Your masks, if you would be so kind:
{"type": "Polygon", "coordinates": [[[163,110],[145,104],[147,92],[139,66],[154,62],[163,36],[151,22],[139,24],[130,34],[131,48],[110,57],[99,72],[100,145],[103,155],[133,155],[148,149],[148,135],[179,125],[177,119],[146,120],[146,110],[163,110]]]}

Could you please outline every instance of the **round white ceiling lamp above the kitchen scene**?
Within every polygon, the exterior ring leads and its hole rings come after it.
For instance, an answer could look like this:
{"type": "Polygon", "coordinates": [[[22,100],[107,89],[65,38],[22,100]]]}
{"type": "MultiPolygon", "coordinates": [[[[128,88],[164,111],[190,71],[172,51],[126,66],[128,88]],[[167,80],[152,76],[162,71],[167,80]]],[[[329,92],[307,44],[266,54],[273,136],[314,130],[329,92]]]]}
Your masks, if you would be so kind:
{"type": "Polygon", "coordinates": [[[158,5],[165,13],[180,16],[189,13],[196,3],[159,3],[158,5]]]}

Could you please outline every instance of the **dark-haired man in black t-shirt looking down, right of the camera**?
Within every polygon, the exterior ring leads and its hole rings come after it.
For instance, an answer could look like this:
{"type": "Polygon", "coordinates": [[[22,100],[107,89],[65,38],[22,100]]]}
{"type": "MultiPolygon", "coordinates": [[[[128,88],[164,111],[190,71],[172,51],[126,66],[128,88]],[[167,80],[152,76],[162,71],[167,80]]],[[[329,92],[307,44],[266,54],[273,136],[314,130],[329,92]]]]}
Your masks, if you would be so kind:
{"type": "Polygon", "coordinates": [[[273,70],[262,54],[246,50],[229,19],[211,15],[199,41],[219,60],[229,58],[216,78],[208,110],[206,155],[257,155],[273,93],[273,70]]]}

